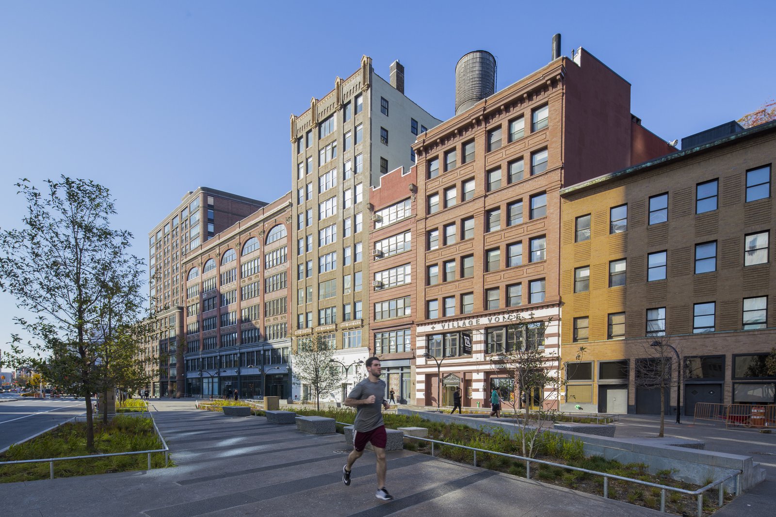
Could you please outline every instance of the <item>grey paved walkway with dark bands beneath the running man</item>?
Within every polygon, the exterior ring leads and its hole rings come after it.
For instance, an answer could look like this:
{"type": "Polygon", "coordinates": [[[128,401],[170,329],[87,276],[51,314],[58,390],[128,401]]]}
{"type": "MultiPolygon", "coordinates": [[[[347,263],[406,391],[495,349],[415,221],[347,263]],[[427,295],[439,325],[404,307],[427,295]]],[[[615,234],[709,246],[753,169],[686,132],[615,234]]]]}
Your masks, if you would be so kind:
{"type": "Polygon", "coordinates": [[[387,488],[375,498],[374,456],[341,482],[342,435],[306,435],[265,418],[198,411],[193,401],[151,401],[178,467],[0,484],[6,508],[40,517],[237,515],[660,515],[538,481],[409,451],[387,453],[387,488]]]}

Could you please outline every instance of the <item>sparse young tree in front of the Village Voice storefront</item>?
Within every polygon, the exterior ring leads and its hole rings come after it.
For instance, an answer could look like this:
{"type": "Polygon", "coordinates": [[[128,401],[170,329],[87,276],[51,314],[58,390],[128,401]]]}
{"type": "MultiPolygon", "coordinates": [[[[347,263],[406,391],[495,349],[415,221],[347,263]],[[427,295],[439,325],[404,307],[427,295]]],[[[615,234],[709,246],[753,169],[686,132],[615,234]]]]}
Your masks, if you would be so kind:
{"type": "Polygon", "coordinates": [[[518,315],[518,320],[505,333],[490,335],[487,343],[490,352],[494,353],[491,363],[500,373],[506,374],[502,399],[512,406],[515,415],[518,410],[522,411],[522,418],[515,418],[515,425],[520,428],[522,454],[528,457],[535,455],[536,440],[542,427],[558,409],[552,404],[557,404],[563,384],[558,354],[544,348],[544,335],[551,322],[552,318],[535,321],[533,313],[528,317],[518,315]],[[542,401],[539,408],[531,411],[532,397],[548,391],[555,395],[555,402],[546,405],[542,401]]]}

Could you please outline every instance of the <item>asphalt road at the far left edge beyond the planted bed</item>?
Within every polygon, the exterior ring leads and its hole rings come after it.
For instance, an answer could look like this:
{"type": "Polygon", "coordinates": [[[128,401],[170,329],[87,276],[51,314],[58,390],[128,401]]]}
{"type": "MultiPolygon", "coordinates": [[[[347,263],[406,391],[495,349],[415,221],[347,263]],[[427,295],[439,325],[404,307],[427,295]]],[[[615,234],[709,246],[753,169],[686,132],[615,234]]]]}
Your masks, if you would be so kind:
{"type": "Polygon", "coordinates": [[[0,450],[85,412],[83,399],[2,397],[0,401],[0,450]]]}

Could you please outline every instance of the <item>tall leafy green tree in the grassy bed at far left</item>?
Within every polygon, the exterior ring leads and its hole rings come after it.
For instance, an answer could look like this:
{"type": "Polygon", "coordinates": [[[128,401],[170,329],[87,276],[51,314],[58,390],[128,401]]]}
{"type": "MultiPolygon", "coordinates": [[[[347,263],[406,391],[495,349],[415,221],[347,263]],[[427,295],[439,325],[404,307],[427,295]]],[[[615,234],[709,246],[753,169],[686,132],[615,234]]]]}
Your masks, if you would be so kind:
{"type": "Polygon", "coordinates": [[[16,186],[28,206],[21,228],[0,232],[0,290],[33,313],[29,320],[15,318],[33,338],[30,354],[22,338],[12,336],[12,363],[85,397],[86,446],[94,449],[92,394],[99,389],[101,355],[95,335],[132,235],[111,227],[113,197],[91,180],[61,176],[39,190],[23,179],[16,186]]]}

